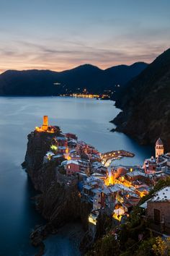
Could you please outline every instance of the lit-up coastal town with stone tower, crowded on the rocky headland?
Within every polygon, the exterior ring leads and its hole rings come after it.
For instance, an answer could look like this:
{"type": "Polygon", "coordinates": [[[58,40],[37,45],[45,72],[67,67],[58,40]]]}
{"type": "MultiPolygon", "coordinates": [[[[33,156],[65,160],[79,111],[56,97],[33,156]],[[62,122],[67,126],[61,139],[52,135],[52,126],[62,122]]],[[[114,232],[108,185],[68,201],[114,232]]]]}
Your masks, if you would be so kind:
{"type": "Polygon", "coordinates": [[[136,205],[143,210],[143,218],[154,224],[153,229],[170,234],[170,187],[164,187],[140,204],[158,181],[170,174],[170,153],[164,153],[160,138],[156,141],[155,156],[146,159],[143,166],[115,166],[110,163],[134,154],[125,150],[99,153],[76,135],[49,126],[48,116],[43,117],[42,127],[36,127],[32,136],[36,133],[50,135],[50,150],[45,153],[43,164],[59,162],[55,179],[68,187],[76,185],[81,202],[91,205],[89,233],[92,237],[96,234],[99,213],[112,216],[119,225],[125,223],[136,205]]]}

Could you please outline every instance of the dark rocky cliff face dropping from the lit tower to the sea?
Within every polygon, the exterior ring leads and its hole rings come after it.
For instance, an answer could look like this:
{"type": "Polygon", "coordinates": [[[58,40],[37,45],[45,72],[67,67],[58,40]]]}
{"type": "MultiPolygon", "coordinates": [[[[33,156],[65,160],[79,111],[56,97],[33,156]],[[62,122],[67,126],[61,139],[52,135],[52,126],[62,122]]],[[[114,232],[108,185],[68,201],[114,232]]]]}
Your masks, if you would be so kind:
{"type": "Polygon", "coordinates": [[[40,244],[47,234],[54,233],[68,222],[79,220],[86,230],[91,209],[89,204],[81,202],[77,180],[68,184],[66,176],[57,175],[56,168],[63,158],[43,163],[43,156],[50,150],[53,136],[54,134],[50,133],[31,132],[28,135],[27,153],[22,164],[39,192],[35,197],[37,210],[47,220],[45,227],[36,229],[32,234],[32,243],[35,245],[40,244]]]}

